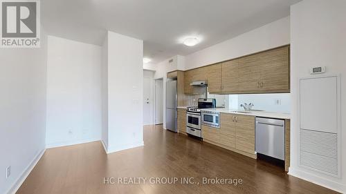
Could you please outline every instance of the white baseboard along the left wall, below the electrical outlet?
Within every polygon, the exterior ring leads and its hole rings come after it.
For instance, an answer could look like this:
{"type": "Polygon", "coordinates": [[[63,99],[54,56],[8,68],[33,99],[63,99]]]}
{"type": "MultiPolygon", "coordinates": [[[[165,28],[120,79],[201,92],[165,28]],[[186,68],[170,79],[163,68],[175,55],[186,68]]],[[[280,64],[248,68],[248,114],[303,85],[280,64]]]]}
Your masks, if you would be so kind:
{"type": "Polygon", "coordinates": [[[41,159],[42,155],[44,155],[45,152],[46,152],[46,149],[43,149],[42,151],[40,151],[34,157],[33,161],[30,162],[30,164],[28,166],[26,166],[26,169],[24,170],[24,172],[21,173],[21,176],[18,177],[15,184],[13,184],[12,187],[10,188],[10,190],[7,192],[8,194],[15,194],[18,191],[21,184],[23,184],[23,182],[26,180],[26,177],[28,177],[28,175],[30,175],[31,171],[33,171],[33,168],[36,166],[37,162],[39,162],[39,159],[41,159]]]}

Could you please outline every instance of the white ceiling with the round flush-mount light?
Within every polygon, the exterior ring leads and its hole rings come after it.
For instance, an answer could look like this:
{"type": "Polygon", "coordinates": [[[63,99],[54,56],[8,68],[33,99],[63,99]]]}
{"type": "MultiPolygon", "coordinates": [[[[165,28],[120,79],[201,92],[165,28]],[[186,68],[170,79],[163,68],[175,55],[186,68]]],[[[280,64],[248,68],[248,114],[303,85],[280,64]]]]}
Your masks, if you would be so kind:
{"type": "Polygon", "coordinates": [[[49,35],[102,45],[106,29],[144,40],[157,63],[188,55],[289,15],[300,0],[44,0],[49,35]],[[197,46],[181,44],[197,35],[197,46]]]}

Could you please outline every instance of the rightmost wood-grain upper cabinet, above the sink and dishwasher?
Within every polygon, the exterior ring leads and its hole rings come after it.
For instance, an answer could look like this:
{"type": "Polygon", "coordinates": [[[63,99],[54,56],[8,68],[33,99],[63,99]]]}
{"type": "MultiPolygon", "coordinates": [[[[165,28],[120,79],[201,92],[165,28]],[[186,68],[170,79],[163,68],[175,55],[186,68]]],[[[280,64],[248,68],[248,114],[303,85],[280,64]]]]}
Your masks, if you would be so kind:
{"type": "Polygon", "coordinates": [[[289,46],[239,59],[238,93],[289,93],[289,46]]]}

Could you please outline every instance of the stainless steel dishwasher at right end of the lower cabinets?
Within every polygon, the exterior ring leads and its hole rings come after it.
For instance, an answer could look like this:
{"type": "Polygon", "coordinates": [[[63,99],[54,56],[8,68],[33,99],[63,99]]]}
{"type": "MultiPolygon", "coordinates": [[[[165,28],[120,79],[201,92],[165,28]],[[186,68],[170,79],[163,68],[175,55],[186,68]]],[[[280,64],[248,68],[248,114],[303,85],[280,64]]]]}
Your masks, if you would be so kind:
{"type": "Polygon", "coordinates": [[[284,120],[256,117],[255,151],[284,160],[284,120]]]}

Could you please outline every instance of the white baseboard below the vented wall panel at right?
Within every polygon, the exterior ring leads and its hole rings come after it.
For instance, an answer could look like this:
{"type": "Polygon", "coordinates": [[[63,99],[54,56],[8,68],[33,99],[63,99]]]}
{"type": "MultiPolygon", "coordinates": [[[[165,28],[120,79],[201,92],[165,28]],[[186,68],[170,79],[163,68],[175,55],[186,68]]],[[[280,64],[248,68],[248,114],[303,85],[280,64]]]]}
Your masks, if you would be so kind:
{"type": "Polygon", "coordinates": [[[340,184],[338,182],[334,182],[332,180],[327,180],[324,177],[313,175],[305,171],[300,171],[299,169],[292,168],[292,167],[289,167],[289,173],[287,174],[293,177],[298,177],[302,180],[306,180],[308,182],[312,182],[313,184],[318,184],[325,188],[329,188],[339,193],[346,193],[346,185],[340,184]]]}

